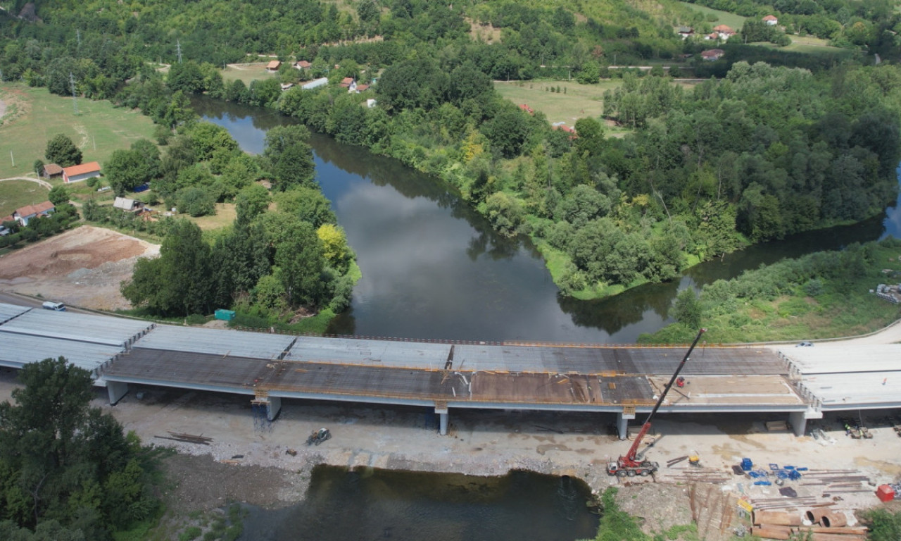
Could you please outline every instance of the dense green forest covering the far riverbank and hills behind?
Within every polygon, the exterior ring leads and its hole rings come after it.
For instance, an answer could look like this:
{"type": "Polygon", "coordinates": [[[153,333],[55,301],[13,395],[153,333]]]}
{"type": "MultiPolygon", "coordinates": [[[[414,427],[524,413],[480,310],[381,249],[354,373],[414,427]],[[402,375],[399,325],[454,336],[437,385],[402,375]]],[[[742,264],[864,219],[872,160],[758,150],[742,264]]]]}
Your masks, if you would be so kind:
{"type": "MultiPolygon", "coordinates": [[[[193,126],[191,93],[277,109],[444,179],[497,231],[532,236],[562,292],[578,298],[671,280],[747,243],[859,221],[896,193],[896,65],[783,53],[774,62],[744,61],[771,49],[728,43],[726,60],[694,61],[698,72],[721,76],[699,84],[675,83],[662,69],[607,69],[617,56],[639,63],[697,56],[708,46],[674,32],[677,23],[705,23],[676,3],[651,11],[615,0],[360,0],[341,9],[279,1],[266,9],[211,1],[87,4],[102,7],[100,16],[48,0],[10,21],[0,37],[0,69],[60,95],[71,92],[71,72],[84,95],[140,107],[177,133],[167,150],[169,170],[151,181],[167,204],[202,210],[212,199],[236,197],[246,180],[268,179],[276,191],[298,181],[283,179],[295,171],[278,170],[271,158],[262,167],[239,158],[232,164],[228,148],[201,151],[199,166],[178,166],[185,146],[179,138],[211,130],[193,126]],[[478,37],[491,29],[498,40],[478,37]],[[311,68],[301,72],[286,61],[279,78],[223,81],[221,64],[250,53],[308,60],[311,68]],[[160,61],[169,64],[165,78],[160,61]],[[589,83],[622,79],[605,96],[602,118],[575,123],[576,137],[492,87],[493,79],[551,78],[565,92],[570,75],[589,83]],[[321,76],[376,84],[361,94],[335,84],[286,92],[278,86],[321,76]],[[369,98],[378,105],[366,106],[369,98]],[[610,123],[630,133],[607,136],[610,123]]],[[[899,43],[886,41],[885,32],[854,34],[860,20],[899,28],[899,15],[885,5],[837,1],[817,14],[841,26],[833,41],[897,58],[899,43]],[[832,15],[842,6],[851,11],[844,23],[832,15]]],[[[137,163],[121,158],[118,169],[137,163]]],[[[286,293],[295,290],[281,284],[286,293]]],[[[249,285],[232,289],[232,299],[249,285]]]]}

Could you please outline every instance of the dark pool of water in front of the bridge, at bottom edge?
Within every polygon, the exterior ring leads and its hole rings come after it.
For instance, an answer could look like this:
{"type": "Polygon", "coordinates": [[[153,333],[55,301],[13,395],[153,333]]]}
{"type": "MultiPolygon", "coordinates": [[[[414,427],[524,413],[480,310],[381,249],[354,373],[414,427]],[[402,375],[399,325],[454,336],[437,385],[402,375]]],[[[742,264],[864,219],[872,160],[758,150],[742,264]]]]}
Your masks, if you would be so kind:
{"type": "Polygon", "coordinates": [[[268,511],[249,507],[250,541],[573,541],[593,538],[587,485],[569,477],[314,468],[306,500],[268,511]]]}

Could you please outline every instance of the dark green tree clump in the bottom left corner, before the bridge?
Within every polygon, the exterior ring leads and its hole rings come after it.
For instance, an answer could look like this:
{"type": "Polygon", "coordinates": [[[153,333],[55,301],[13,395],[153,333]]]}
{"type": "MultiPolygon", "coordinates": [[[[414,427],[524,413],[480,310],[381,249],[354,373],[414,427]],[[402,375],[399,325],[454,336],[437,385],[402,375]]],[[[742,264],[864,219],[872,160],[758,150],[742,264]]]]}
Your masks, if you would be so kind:
{"type": "Polygon", "coordinates": [[[140,442],[90,407],[90,373],[60,357],[25,365],[19,380],[14,403],[0,403],[5,538],[37,527],[40,539],[108,539],[149,517],[158,503],[140,442]]]}

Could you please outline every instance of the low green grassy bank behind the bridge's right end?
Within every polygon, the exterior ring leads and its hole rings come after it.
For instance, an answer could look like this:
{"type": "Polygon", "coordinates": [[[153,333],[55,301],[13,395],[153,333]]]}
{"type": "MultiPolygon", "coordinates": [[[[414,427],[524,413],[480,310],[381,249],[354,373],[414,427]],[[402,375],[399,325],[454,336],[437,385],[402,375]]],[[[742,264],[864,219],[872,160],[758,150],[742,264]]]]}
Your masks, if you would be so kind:
{"type": "Polygon", "coordinates": [[[687,343],[699,326],[711,344],[864,335],[901,316],[896,304],[871,292],[898,277],[901,241],[892,237],[778,261],[707,284],[699,294],[682,291],[671,308],[677,323],[638,342],[687,343]]]}

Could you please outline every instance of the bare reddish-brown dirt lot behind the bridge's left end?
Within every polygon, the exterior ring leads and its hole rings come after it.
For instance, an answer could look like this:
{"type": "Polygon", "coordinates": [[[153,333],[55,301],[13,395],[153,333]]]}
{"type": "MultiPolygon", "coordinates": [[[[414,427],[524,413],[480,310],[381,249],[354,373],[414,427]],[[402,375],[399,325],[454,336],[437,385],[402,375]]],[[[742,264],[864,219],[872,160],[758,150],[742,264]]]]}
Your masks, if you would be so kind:
{"type": "Polygon", "coordinates": [[[132,276],[139,257],[158,254],[157,244],[82,225],[0,256],[0,291],[99,310],[128,308],[120,282],[132,276]]]}

